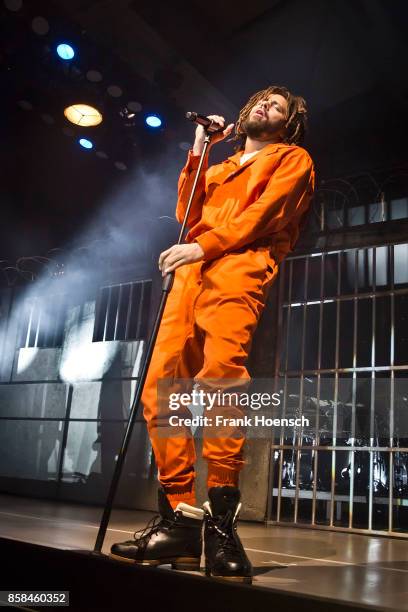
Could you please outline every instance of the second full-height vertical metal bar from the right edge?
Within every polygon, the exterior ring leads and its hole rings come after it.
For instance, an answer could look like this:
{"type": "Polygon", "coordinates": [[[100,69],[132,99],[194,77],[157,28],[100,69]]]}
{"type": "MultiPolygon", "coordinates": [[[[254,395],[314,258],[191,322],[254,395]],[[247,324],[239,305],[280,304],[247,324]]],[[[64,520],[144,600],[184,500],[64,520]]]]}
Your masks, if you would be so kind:
{"type": "MultiPolygon", "coordinates": [[[[369,485],[368,485],[368,529],[373,528],[373,485],[374,485],[374,446],[375,431],[375,325],[377,317],[377,249],[372,249],[372,279],[373,279],[373,298],[372,298],[372,325],[371,325],[371,393],[370,393],[370,451],[369,451],[369,485]]],[[[377,451],[378,452],[378,451],[377,451]]]]}

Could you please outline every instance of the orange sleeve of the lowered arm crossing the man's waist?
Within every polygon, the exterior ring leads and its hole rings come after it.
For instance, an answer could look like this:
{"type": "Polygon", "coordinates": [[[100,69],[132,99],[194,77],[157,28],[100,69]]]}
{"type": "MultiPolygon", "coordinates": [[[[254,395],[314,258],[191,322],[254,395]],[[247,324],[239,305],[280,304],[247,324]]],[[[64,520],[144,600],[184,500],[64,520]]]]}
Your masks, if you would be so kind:
{"type": "Polygon", "coordinates": [[[255,202],[235,219],[195,238],[204,251],[204,259],[215,259],[281,231],[295,214],[305,212],[313,184],[313,162],[308,153],[300,147],[289,151],[255,202]]]}

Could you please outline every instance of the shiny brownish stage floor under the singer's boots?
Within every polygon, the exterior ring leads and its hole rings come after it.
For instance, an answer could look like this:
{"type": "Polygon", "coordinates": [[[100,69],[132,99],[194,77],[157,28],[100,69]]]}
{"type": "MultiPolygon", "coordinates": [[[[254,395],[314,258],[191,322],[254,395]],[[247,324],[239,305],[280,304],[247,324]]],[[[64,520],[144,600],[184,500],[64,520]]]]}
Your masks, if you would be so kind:
{"type": "MultiPolygon", "coordinates": [[[[115,510],[104,552],[131,538],[152,515],[115,510]]],[[[100,516],[100,508],[0,495],[0,536],[23,542],[91,550],[100,516]]],[[[376,610],[408,609],[406,540],[245,522],[239,533],[254,565],[255,586],[376,610]]],[[[173,570],[163,566],[163,571],[173,570]]]]}

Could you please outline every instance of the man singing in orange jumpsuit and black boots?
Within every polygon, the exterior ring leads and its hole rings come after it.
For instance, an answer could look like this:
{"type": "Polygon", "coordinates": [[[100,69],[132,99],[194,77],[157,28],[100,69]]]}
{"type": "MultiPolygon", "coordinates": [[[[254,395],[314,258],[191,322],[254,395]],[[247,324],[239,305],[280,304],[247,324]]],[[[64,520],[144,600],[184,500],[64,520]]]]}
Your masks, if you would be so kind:
{"type": "MultiPolygon", "coordinates": [[[[228,137],[224,118],[209,117],[228,137]]],[[[208,576],[252,581],[252,567],[236,531],[240,503],[239,472],[244,466],[244,435],[203,431],[208,497],[196,507],[195,448],[191,431],[163,435],[158,381],[190,379],[201,388],[211,381],[223,388],[245,385],[251,339],[279,263],[291,251],[309,207],[313,162],[299,146],[306,126],[306,104],[285,87],[255,93],[235,126],[241,148],[199,178],[188,218],[186,243],[161,253],[162,275],[175,271],[142,402],[159,469],[160,520],[114,544],[122,561],[175,569],[199,569],[204,516],[205,569],[208,576]]],[[[182,222],[205,131],[198,126],[192,151],[179,179],[176,217],[182,222]]],[[[208,156],[207,156],[208,157],[208,156]]],[[[231,409],[233,410],[233,409],[231,409]]],[[[214,414],[225,407],[217,406],[214,414]]],[[[235,432],[236,434],[236,432],[235,432]]]]}

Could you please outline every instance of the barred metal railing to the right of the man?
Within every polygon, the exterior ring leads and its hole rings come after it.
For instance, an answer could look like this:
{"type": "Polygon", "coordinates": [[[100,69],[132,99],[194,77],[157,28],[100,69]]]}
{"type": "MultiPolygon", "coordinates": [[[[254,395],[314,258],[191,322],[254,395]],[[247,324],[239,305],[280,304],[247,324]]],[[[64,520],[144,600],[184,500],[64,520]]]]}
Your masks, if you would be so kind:
{"type": "Polygon", "coordinates": [[[407,263],[386,244],[282,264],[282,416],[313,426],[273,434],[270,521],[408,537],[407,263]]]}

